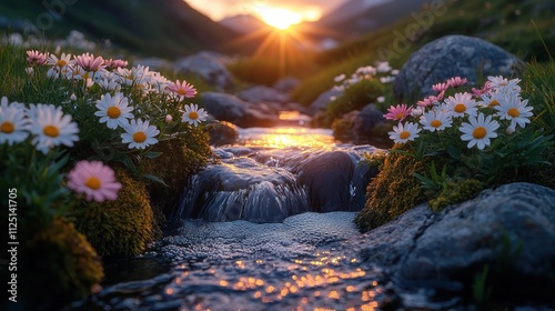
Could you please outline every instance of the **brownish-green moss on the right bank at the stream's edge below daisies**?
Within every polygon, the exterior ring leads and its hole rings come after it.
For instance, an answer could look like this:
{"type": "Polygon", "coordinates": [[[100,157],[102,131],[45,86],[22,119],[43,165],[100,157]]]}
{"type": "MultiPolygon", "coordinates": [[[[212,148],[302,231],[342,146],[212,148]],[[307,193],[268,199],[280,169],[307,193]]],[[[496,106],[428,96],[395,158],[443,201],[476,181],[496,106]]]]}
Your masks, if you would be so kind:
{"type": "Polygon", "coordinates": [[[423,173],[427,167],[398,152],[403,148],[398,144],[393,147],[380,173],[366,188],[366,203],[355,218],[363,232],[385,224],[425,201],[425,193],[413,173],[423,173]]]}

